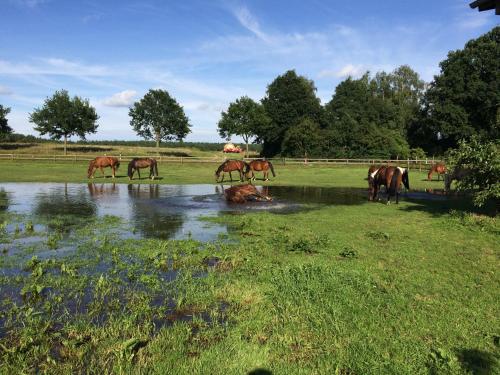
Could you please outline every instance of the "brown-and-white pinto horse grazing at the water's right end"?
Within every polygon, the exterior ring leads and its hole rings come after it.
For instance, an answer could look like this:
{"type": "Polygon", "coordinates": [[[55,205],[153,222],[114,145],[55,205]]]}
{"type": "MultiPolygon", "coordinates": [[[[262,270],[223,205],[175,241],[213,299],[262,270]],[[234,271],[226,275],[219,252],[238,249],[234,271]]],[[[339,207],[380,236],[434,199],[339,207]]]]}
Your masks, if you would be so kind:
{"type": "Polygon", "coordinates": [[[387,189],[387,204],[391,203],[391,197],[396,197],[396,203],[399,203],[399,189],[401,183],[406,189],[410,189],[410,181],[408,178],[408,170],[401,167],[380,167],[378,170],[372,170],[368,177],[370,193],[369,200],[377,198],[378,191],[381,185],[387,189]]]}

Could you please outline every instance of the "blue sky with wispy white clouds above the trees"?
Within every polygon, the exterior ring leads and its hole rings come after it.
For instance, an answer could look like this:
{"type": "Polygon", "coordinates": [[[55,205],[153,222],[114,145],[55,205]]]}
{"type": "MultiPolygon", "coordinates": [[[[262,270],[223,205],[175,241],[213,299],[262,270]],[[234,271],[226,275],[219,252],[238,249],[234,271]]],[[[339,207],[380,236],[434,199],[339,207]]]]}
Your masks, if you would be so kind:
{"type": "Polygon", "coordinates": [[[89,139],[136,139],[128,107],[163,88],[190,118],[187,140],[219,141],[220,112],[288,69],[323,103],[366,70],[408,64],[432,80],[448,51],[498,24],[469,2],[0,0],[0,104],[37,134],[29,113],[66,89],[101,117],[89,139]]]}

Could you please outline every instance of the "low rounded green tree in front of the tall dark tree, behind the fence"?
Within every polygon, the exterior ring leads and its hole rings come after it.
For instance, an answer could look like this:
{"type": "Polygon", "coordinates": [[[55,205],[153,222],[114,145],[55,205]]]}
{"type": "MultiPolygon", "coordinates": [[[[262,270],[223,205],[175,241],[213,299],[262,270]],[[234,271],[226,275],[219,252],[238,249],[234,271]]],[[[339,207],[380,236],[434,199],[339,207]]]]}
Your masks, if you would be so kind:
{"type": "Polygon", "coordinates": [[[292,126],[285,134],[282,151],[286,155],[307,159],[315,152],[320,152],[321,129],[309,118],[304,118],[292,126]]]}

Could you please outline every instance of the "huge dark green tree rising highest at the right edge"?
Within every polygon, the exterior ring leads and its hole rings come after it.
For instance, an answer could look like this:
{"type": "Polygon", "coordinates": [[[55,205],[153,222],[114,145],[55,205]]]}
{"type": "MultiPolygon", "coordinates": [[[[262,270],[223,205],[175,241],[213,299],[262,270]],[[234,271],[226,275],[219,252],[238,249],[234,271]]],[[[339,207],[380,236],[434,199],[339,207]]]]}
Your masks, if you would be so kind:
{"type": "Polygon", "coordinates": [[[470,40],[440,63],[410,129],[424,149],[455,148],[462,138],[500,137],[500,27],[470,40]]]}

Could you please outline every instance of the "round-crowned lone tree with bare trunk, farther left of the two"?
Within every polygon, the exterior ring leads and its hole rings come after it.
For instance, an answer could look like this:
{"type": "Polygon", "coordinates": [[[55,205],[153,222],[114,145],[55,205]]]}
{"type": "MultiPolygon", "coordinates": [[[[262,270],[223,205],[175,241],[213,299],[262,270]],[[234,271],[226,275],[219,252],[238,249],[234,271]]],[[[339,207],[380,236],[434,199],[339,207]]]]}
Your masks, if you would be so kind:
{"type": "Polygon", "coordinates": [[[95,133],[99,116],[88,99],[70,98],[66,90],[61,90],[45,99],[42,108],[36,108],[29,119],[40,134],[49,134],[52,139],[64,138],[66,155],[68,137],[77,135],[85,139],[85,134],[95,133]]]}

